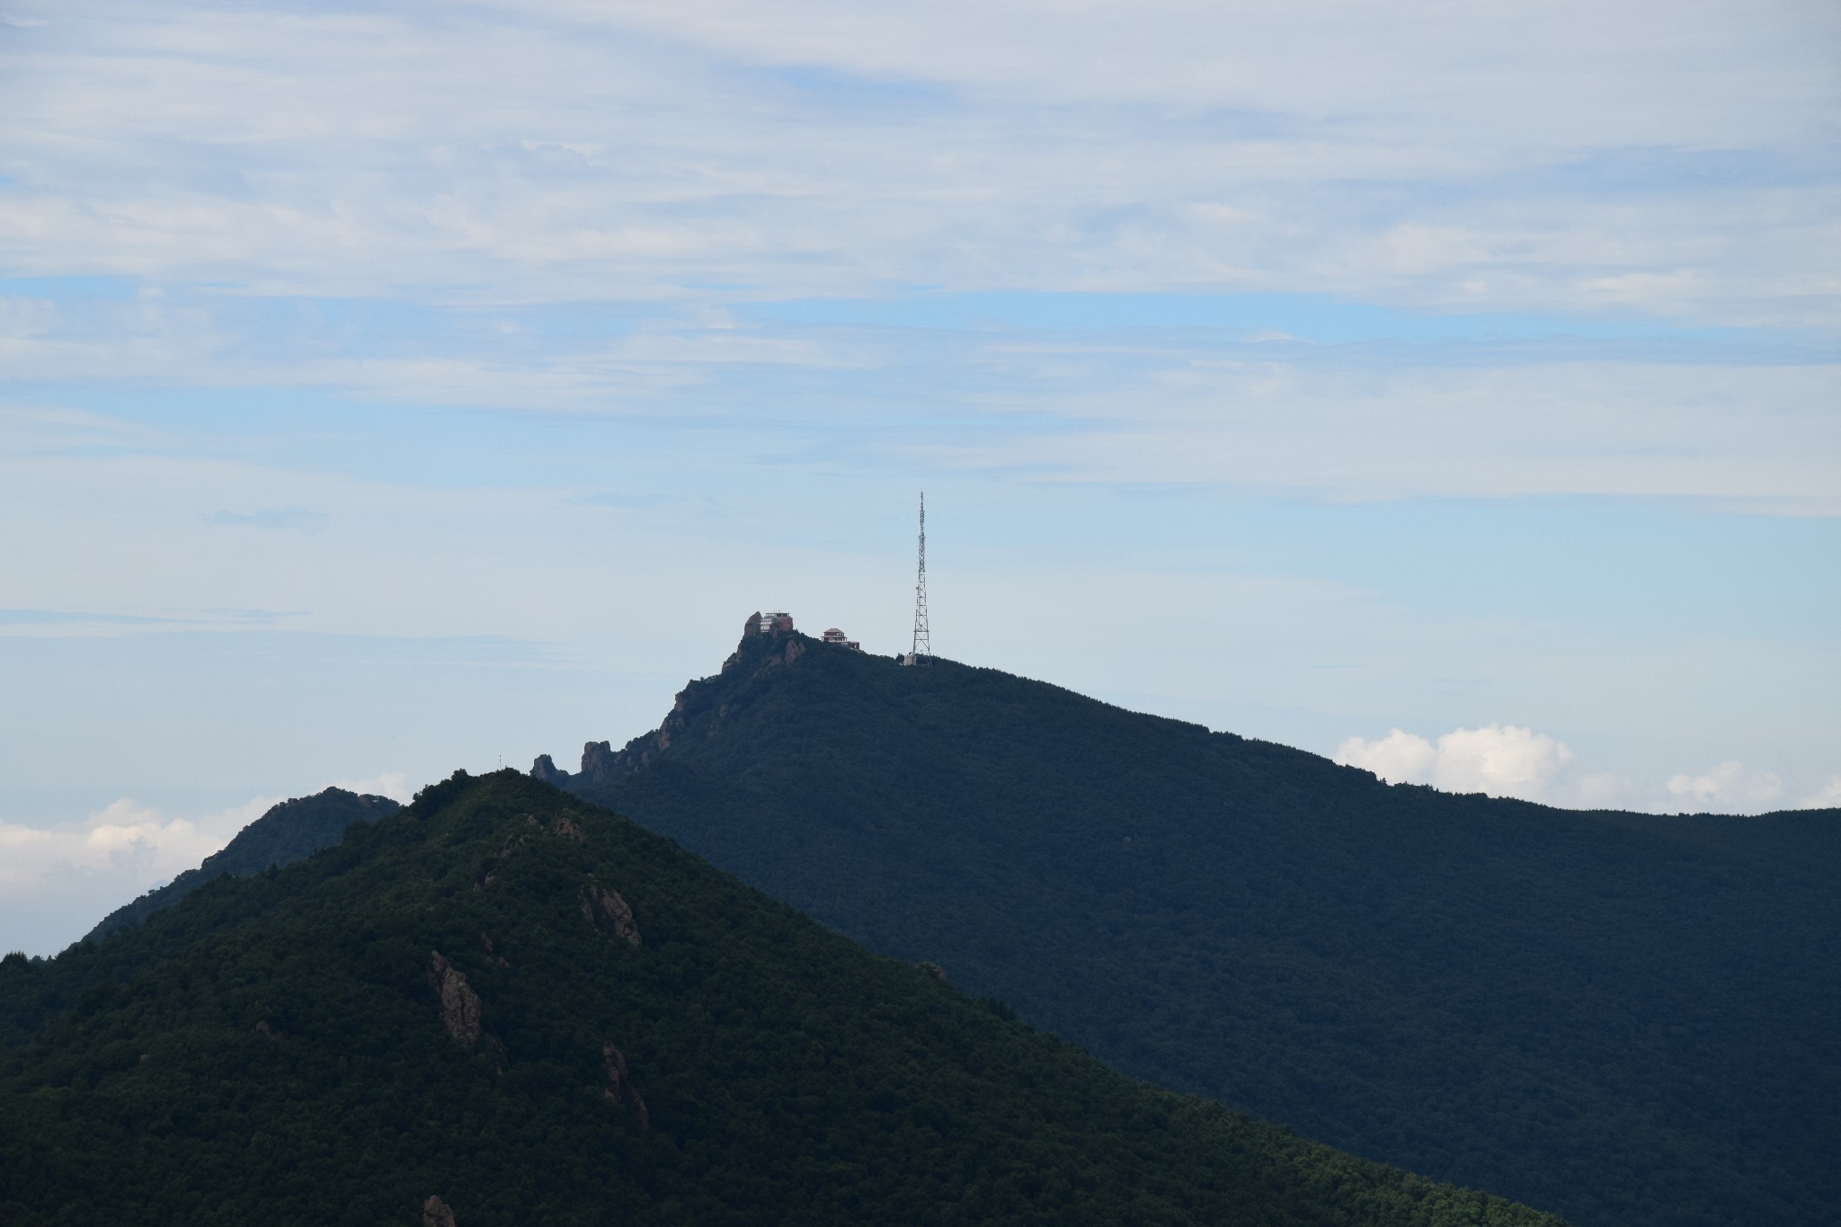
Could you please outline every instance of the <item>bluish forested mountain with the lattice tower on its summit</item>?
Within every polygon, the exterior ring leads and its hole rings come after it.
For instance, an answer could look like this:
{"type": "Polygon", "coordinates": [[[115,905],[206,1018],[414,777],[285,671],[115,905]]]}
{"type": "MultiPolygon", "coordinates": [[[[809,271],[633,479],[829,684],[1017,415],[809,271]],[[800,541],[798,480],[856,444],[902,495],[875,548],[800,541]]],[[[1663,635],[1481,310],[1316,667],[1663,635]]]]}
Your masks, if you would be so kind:
{"type": "Polygon", "coordinates": [[[1333,1146],[1587,1227],[1841,1221],[1841,811],[1390,787],[784,629],[534,774],[1333,1146]]]}

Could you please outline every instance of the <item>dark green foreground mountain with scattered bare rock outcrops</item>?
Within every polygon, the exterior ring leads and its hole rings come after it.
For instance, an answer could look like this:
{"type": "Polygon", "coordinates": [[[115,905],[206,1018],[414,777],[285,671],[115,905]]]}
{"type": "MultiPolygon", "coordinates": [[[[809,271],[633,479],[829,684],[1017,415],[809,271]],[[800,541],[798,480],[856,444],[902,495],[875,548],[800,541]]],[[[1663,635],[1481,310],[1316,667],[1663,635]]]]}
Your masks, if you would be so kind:
{"type": "Polygon", "coordinates": [[[46,975],[88,988],[0,1050],[20,1227],[1557,1223],[1127,1082],[512,771],[9,955],[0,1004],[46,975]]]}

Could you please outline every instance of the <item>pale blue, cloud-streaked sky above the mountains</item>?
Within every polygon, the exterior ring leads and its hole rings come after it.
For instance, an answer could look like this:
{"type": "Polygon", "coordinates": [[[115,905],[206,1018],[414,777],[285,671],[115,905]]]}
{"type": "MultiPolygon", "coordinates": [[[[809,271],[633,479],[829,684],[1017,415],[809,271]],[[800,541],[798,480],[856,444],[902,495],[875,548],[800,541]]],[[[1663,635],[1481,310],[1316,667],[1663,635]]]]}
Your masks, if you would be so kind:
{"type": "Polygon", "coordinates": [[[757,609],[1841,806],[1828,0],[0,0],[0,946],[757,609]]]}

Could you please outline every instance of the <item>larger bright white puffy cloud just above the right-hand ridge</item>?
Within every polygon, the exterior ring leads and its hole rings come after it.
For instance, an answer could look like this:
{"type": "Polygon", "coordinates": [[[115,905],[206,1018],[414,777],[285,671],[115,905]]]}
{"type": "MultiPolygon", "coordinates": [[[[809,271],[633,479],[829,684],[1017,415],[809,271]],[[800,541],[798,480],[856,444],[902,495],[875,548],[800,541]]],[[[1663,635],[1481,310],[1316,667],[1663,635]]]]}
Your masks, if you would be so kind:
{"type": "Polygon", "coordinates": [[[1574,754],[1554,738],[1513,725],[1454,728],[1436,743],[1394,728],[1375,741],[1349,738],[1335,760],[1388,784],[1430,784],[1449,793],[1546,800],[1574,754]]]}

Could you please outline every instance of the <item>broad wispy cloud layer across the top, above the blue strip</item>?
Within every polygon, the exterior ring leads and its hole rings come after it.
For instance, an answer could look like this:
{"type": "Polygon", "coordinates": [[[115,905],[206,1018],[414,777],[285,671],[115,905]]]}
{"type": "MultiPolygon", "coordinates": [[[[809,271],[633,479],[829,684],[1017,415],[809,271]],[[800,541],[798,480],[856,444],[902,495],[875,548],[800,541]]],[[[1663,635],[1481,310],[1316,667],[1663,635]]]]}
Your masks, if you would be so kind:
{"type": "Polygon", "coordinates": [[[1766,7],[46,6],[0,215],[17,270],[263,292],[1832,320],[1841,31],[1766,7]]]}

